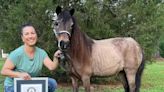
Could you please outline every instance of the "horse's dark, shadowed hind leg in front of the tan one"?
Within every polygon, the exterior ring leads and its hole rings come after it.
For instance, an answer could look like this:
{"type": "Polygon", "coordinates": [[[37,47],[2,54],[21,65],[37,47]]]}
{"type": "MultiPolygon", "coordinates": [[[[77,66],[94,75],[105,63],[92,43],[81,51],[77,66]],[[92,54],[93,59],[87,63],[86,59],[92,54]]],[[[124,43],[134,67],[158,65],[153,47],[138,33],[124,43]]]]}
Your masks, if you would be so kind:
{"type": "Polygon", "coordinates": [[[121,77],[121,81],[124,86],[125,92],[129,92],[129,85],[128,85],[128,80],[127,80],[125,71],[124,70],[121,71],[119,75],[121,77]]]}

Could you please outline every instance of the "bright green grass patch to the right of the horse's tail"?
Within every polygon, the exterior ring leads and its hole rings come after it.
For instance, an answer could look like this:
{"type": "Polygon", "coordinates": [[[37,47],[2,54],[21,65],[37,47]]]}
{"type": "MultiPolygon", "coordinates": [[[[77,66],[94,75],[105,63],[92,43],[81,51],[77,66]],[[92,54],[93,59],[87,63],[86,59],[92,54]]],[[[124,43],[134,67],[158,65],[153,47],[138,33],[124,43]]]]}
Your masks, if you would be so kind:
{"type": "Polygon", "coordinates": [[[164,62],[147,64],[142,79],[141,92],[164,91],[164,62]]]}

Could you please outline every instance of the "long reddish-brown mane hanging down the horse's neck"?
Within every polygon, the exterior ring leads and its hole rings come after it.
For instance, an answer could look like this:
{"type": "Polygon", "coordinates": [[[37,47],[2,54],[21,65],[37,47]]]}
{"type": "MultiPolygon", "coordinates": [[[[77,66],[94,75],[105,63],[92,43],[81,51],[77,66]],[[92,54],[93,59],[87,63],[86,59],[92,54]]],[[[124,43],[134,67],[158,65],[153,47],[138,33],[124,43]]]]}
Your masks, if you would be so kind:
{"type": "Polygon", "coordinates": [[[72,20],[74,24],[70,38],[70,53],[72,57],[83,61],[84,59],[90,57],[92,52],[92,45],[94,42],[85,33],[80,31],[74,16],[72,16],[72,20]]]}

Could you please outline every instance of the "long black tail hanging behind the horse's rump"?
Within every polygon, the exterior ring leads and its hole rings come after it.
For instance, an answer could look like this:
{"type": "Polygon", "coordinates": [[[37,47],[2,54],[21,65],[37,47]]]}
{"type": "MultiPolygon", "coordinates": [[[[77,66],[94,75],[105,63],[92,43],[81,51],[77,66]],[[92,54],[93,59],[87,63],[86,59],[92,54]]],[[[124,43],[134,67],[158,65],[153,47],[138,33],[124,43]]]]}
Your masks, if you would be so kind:
{"type": "Polygon", "coordinates": [[[135,78],[135,84],[136,84],[135,92],[139,92],[140,84],[141,84],[141,76],[142,76],[144,67],[145,67],[145,58],[144,58],[144,53],[142,52],[142,62],[137,70],[136,78],[135,78]]]}

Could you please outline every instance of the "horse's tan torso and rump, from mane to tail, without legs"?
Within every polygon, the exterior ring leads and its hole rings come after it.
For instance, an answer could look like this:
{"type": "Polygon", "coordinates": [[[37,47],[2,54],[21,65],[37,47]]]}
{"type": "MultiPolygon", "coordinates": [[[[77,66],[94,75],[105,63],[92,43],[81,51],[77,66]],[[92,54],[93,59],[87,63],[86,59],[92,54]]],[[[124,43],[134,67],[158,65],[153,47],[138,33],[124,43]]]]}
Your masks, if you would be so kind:
{"type": "Polygon", "coordinates": [[[92,70],[95,75],[112,75],[123,68],[138,68],[141,63],[139,44],[130,37],[94,40],[92,70]]]}

